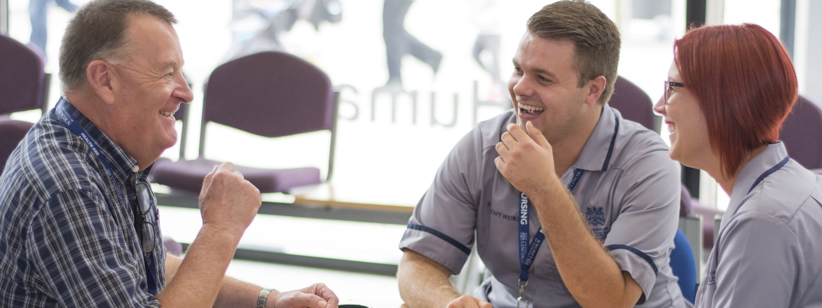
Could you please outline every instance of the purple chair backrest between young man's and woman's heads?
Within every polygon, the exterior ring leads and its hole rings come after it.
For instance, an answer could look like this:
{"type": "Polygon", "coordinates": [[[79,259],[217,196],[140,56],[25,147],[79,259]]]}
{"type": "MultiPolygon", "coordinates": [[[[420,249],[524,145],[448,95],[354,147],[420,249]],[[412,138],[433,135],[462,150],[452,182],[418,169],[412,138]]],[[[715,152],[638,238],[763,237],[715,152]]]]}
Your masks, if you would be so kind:
{"type": "Polygon", "coordinates": [[[645,91],[633,82],[617,76],[614,84],[614,94],[608,100],[608,105],[617,108],[622,117],[642,124],[645,128],[659,133],[662,117],[653,113],[653,101],[645,91]]]}

